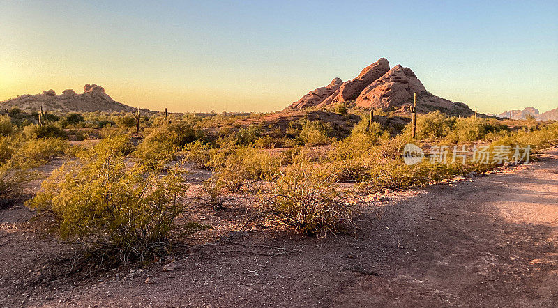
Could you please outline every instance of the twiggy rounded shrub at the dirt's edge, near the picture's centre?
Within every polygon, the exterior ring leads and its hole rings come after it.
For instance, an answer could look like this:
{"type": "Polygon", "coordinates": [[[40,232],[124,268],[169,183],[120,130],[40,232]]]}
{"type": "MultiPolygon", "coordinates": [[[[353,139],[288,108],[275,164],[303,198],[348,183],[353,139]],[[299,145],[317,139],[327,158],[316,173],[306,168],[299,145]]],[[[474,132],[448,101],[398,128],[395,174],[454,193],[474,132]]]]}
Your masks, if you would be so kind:
{"type": "Polygon", "coordinates": [[[338,233],[352,224],[354,209],[336,190],[334,174],[307,161],[270,174],[271,196],[262,213],[308,236],[338,233]]]}

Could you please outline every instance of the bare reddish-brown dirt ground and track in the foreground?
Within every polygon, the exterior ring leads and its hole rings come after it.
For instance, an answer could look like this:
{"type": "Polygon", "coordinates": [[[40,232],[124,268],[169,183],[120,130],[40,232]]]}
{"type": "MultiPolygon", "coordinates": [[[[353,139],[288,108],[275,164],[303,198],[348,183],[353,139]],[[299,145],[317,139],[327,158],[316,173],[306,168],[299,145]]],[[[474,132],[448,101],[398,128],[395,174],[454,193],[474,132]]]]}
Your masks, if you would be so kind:
{"type": "Polygon", "coordinates": [[[33,231],[33,213],[0,210],[0,306],[556,307],[558,148],[527,167],[370,197],[356,237],[234,231],[234,211],[200,212],[222,227],[176,269],[89,278],[51,269],[72,252],[33,231]]]}

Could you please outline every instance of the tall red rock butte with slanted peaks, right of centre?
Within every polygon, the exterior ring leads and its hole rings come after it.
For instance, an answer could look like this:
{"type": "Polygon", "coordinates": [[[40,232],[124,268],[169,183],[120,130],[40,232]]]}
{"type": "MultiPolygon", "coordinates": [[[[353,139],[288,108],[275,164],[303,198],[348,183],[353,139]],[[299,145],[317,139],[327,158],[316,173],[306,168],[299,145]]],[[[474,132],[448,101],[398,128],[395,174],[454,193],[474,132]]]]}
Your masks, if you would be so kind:
{"type": "Polygon", "coordinates": [[[390,69],[385,58],[370,64],[352,80],[342,82],[335,78],[328,86],[310,91],[286,110],[306,107],[320,109],[347,103],[365,109],[405,110],[412,103],[414,93],[417,93],[419,112],[441,110],[453,115],[474,114],[463,103],[451,102],[428,93],[410,68],[397,65],[390,69]]]}

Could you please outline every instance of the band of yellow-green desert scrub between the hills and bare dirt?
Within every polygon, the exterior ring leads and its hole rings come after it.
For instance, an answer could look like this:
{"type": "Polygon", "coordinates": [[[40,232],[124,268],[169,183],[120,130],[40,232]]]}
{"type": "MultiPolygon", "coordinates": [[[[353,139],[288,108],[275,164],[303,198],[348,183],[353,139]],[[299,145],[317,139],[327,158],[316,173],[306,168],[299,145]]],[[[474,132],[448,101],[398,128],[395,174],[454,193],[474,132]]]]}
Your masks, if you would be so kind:
{"type": "MultiPolygon", "coordinates": [[[[364,192],[405,190],[482,173],[498,162],[407,165],[406,144],[531,146],[558,144],[558,123],[460,118],[435,111],[411,124],[391,125],[389,112],[359,114],[348,134],[312,111],[287,125],[261,114],[70,113],[43,116],[10,110],[0,115],[0,199],[36,210],[52,236],[78,245],[88,260],[112,265],[153,261],[210,226],[193,209],[243,207],[246,224],[269,224],[307,236],[353,233],[364,192]],[[383,121],[379,121],[382,119],[383,121]],[[40,166],[61,167],[44,178],[40,166]],[[207,172],[189,180],[191,172],[207,172]],[[24,185],[44,180],[23,198],[24,185]],[[349,183],[340,189],[341,183],[349,183]],[[193,188],[195,187],[195,188],[193,188]],[[248,198],[251,201],[239,200],[248,198]],[[22,200],[20,200],[22,199],[22,200]]],[[[511,150],[510,150],[511,151],[511,150]]]]}

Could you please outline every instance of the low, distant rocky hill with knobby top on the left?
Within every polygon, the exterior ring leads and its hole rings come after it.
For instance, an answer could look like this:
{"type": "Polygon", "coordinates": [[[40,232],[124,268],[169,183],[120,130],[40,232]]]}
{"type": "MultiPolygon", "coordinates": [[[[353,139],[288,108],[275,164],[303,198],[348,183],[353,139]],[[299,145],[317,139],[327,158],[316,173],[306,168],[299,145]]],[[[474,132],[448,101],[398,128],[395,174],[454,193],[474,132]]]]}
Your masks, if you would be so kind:
{"type": "Polygon", "coordinates": [[[22,110],[45,111],[133,111],[135,108],[116,102],[105,93],[102,86],[86,84],[84,92],[77,94],[72,89],[62,91],[56,95],[54,90],[43,91],[43,94],[20,95],[4,102],[0,102],[1,109],[19,107],[22,110]]]}

